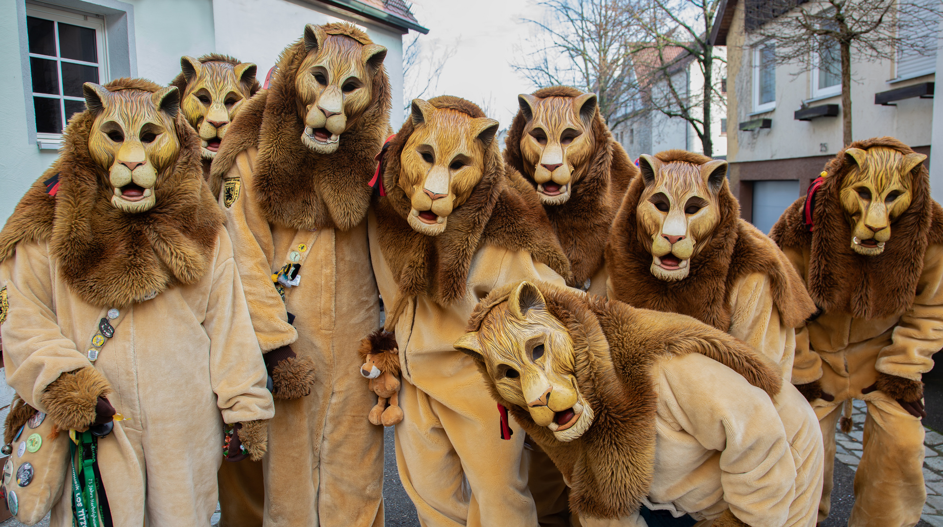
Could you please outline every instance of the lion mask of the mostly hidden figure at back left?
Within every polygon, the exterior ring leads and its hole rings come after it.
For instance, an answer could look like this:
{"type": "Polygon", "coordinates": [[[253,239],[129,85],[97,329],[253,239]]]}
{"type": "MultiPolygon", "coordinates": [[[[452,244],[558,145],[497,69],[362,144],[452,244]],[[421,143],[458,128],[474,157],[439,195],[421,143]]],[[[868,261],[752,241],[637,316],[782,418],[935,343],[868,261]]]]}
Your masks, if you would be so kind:
{"type": "Polygon", "coordinates": [[[220,149],[226,128],[242,104],[258,91],[256,65],[222,55],[180,58],[183,93],[180,108],[200,136],[200,153],[212,159],[220,149]]]}

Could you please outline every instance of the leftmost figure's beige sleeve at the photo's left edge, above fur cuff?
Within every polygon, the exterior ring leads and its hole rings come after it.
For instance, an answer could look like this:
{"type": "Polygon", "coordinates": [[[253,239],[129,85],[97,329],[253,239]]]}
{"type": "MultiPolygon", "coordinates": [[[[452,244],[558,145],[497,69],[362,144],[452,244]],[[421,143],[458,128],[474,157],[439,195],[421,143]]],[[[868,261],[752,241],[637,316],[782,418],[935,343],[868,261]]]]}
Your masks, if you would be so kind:
{"type": "Polygon", "coordinates": [[[91,366],[59,329],[50,266],[46,244],[33,242],[20,243],[0,266],[8,303],[3,321],[7,384],[43,412],[40,398],[46,387],[64,371],[91,366]]]}

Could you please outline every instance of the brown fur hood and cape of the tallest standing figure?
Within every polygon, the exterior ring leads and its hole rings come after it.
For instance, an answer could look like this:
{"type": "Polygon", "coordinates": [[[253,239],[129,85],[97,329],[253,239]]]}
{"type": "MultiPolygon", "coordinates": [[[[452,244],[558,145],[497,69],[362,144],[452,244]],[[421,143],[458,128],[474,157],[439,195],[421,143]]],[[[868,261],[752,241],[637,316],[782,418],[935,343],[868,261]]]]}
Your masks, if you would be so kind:
{"type": "MultiPolygon", "coordinates": [[[[327,24],[323,29],[329,35],[372,43],[354,25],[327,24]]],[[[377,68],[370,106],[341,135],[337,152],[316,154],[301,142],[305,122],[295,89],[298,68],[306,56],[304,39],[282,51],[269,89],[246,102],[226,130],[213,158],[210,187],[218,195],[236,157],[255,146],[258,157],[252,184],[269,222],[304,230],[347,230],[363,220],[370,206],[368,182],[376,170],[373,157],[390,132],[389,78],[385,67],[377,68]]]]}

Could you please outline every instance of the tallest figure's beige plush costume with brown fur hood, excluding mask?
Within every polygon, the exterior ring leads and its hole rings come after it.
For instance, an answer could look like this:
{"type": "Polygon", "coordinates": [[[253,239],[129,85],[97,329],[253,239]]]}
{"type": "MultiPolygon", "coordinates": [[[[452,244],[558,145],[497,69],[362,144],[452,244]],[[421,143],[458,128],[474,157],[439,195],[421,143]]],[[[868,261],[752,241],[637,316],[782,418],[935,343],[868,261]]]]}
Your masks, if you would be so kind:
{"type": "Polygon", "coordinates": [[[296,78],[314,82],[301,78],[310,76],[299,69],[305,60],[339,68],[379,50],[353,25],[308,25],[306,37],[282,53],[270,88],[230,124],[213,160],[262,351],[290,345],[314,365],[310,394],[279,399],[276,386],[265,459],[221,470],[223,526],[383,525],[383,429],[367,419],[376,397],[360,376],[357,348],[379,326],[363,220],[373,156],[389,131],[389,81],[376,55],[358,65],[372,75],[372,91],[361,113],[347,115],[350,128],[332,154],[315,154],[300,139],[310,133],[296,88],[296,78]],[[272,275],[291,263],[301,265],[301,278],[284,288],[283,301],[272,275]]]}

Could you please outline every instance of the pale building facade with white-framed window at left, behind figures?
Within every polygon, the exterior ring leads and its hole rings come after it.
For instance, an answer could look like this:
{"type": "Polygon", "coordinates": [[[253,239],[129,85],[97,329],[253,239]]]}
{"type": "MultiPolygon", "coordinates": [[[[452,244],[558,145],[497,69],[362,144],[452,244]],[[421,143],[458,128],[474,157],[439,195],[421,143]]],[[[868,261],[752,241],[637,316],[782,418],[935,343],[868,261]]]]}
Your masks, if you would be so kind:
{"type": "MultiPolygon", "coordinates": [[[[6,0],[0,2],[0,219],[56,159],[82,83],[120,77],[169,83],[180,57],[255,62],[261,82],[306,24],[351,22],[387,47],[392,100],[403,100],[403,40],[428,32],[403,0],[6,0]]],[[[398,128],[403,111],[393,105],[398,128]]]]}

